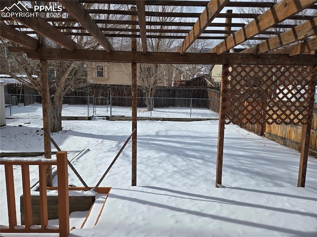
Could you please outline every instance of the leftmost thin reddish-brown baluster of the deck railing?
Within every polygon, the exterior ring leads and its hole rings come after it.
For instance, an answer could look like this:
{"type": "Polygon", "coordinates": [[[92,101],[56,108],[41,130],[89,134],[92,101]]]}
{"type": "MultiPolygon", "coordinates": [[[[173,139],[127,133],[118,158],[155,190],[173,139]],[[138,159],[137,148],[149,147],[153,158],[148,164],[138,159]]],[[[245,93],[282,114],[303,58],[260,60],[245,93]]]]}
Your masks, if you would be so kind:
{"type": "Polygon", "coordinates": [[[13,230],[14,226],[16,226],[13,165],[4,164],[4,171],[6,183],[6,198],[8,204],[9,229],[13,230]]]}

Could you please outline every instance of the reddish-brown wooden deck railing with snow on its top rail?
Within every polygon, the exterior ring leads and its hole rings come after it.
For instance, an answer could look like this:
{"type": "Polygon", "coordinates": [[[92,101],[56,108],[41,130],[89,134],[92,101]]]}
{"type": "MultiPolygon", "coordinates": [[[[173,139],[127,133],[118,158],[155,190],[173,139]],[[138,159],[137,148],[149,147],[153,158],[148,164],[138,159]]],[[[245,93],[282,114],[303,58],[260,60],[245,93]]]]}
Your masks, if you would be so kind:
{"type": "Polygon", "coordinates": [[[2,229],[0,229],[0,233],[59,233],[60,237],[67,237],[69,235],[67,152],[58,151],[56,156],[56,159],[48,161],[19,161],[18,159],[12,161],[0,160],[0,164],[4,165],[5,170],[5,183],[9,220],[9,226],[6,228],[3,228],[3,226],[1,226],[2,229]],[[21,165],[22,170],[24,201],[23,206],[25,213],[24,226],[18,226],[16,220],[13,165],[21,165]],[[32,204],[29,172],[30,165],[39,166],[41,226],[33,226],[32,223],[32,204]],[[46,167],[48,165],[57,166],[59,226],[56,228],[48,226],[48,203],[46,187],[46,167]]]}

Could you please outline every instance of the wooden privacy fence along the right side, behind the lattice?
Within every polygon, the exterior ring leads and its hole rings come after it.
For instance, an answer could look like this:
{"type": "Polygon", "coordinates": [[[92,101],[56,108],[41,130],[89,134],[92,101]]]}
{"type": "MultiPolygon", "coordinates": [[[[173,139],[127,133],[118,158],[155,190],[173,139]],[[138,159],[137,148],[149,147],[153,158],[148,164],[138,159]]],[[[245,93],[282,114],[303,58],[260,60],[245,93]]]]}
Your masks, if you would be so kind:
{"type": "MultiPolygon", "coordinates": [[[[243,66],[241,66],[241,67],[243,67],[243,66]]],[[[253,68],[254,68],[254,66],[253,66],[253,68]]],[[[253,70],[255,70],[255,69],[253,69],[253,70]]],[[[259,73],[254,73],[254,72],[252,72],[252,70],[250,70],[250,71],[253,74],[253,78],[252,78],[252,76],[250,77],[248,75],[248,72],[241,73],[242,76],[240,75],[240,77],[242,77],[242,78],[245,77],[246,79],[243,80],[244,82],[241,82],[241,79],[240,79],[239,83],[244,85],[245,89],[249,90],[249,92],[252,91],[252,92],[257,93],[256,89],[258,86],[254,86],[254,87],[250,88],[250,83],[252,83],[252,85],[254,85],[254,84],[257,85],[257,83],[259,84],[259,81],[260,81],[260,85],[262,85],[261,80],[258,79],[258,77],[257,77],[257,74],[259,74],[259,73]],[[254,83],[254,81],[255,81],[255,83],[254,83]]],[[[274,71],[277,72],[276,69],[274,69],[274,71]]],[[[270,74],[273,74],[274,71],[273,71],[273,69],[271,69],[270,74]]],[[[294,70],[293,70],[293,72],[294,72],[294,70]]],[[[295,73],[295,72],[294,73],[293,72],[291,72],[291,75],[295,73]]],[[[276,75],[276,77],[275,77],[276,81],[277,81],[278,77],[280,77],[280,79],[281,79],[281,77],[283,76],[281,74],[282,73],[278,73],[276,75]]],[[[290,75],[290,74],[288,74],[288,75],[290,75]]],[[[295,73],[295,76],[297,76],[297,75],[298,74],[295,73]]],[[[306,73],[306,75],[307,75],[307,73],[306,73]]],[[[279,83],[281,83],[281,81],[279,83]]],[[[284,87],[287,83],[288,82],[284,82],[284,87]]],[[[235,86],[238,87],[237,83],[235,84],[235,86]]],[[[234,87],[230,87],[230,88],[234,89],[234,87]]],[[[240,90],[240,87],[239,87],[239,90],[240,90]]],[[[264,95],[264,92],[262,92],[262,93],[264,95]]],[[[311,95],[314,95],[315,92],[313,90],[311,90],[310,93],[312,93],[311,95]]],[[[278,87],[277,90],[275,89],[275,94],[277,94],[276,102],[278,102],[278,100],[282,100],[282,102],[284,102],[284,108],[283,108],[283,106],[280,106],[280,108],[278,108],[278,106],[275,106],[272,108],[272,110],[275,111],[275,113],[276,113],[275,115],[273,115],[274,119],[276,119],[277,116],[280,116],[279,119],[284,119],[284,118],[286,118],[286,116],[290,116],[291,120],[293,120],[293,118],[295,116],[289,115],[290,111],[286,110],[284,112],[283,110],[285,110],[287,107],[291,106],[290,102],[294,102],[295,105],[298,105],[298,103],[301,102],[301,101],[299,101],[296,103],[295,98],[298,98],[299,100],[303,101],[303,99],[307,97],[307,95],[304,95],[303,86],[302,86],[302,89],[299,89],[296,91],[292,90],[291,87],[288,88],[286,91],[281,90],[280,87],[278,87]],[[280,93],[276,93],[276,92],[280,92],[280,93]],[[294,95],[293,99],[291,99],[292,95],[294,95]],[[283,97],[284,97],[284,100],[283,100],[283,97]],[[289,101],[286,101],[286,99],[289,101]]],[[[212,100],[210,100],[210,109],[212,111],[219,112],[219,102],[215,99],[216,98],[220,99],[220,92],[218,92],[216,90],[208,89],[208,95],[209,95],[209,98],[212,99],[212,100]]],[[[264,111],[265,109],[264,109],[264,107],[262,107],[262,104],[259,103],[259,99],[256,99],[256,100],[250,99],[250,98],[246,99],[245,96],[246,95],[243,95],[243,93],[242,93],[242,95],[240,95],[239,97],[236,96],[234,98],[234,100],[236,100],[236,106],[238,106],[238,107],[241,106],[240,107],[241,111],[242,111],[241,117],[244,116],[244,118],[242,119],[242,122],[236,123],[237,125],[239,125],[243,129],[246,129],[248,131],[256,133],[260,136],[265,136],[266,138],[273,140],[275,142],[278,142],[282,145],[286,145],[286,146],[291,147],[293,149],[300,150],[300,143],[301,143],[301,139],[302,139],[302,125],[300,125],[300,124],[297,124],[297,125],[296,124],[284,124],[284,123],[283,124],[276,124],[276,123],[267,124],[267,123],[261,123],[261,121],[257,122],[257,123],[251,123],[245,117],[246,113],[248,111],[252,111],[251,113],[254,114],[255,111],[262,111],[262,110],[264,111]],[[253,109],[253,108],[255,108],[255,109],[253,109]]],[[[276,103],[276,104],[278,105],[278,103],[276,103]]],[[[311,155],[317,157],[317,103],[315,103],[314,107],[315,108],[313,110],[313,119],[312,119],[311,135],[310,135],[309,152],[311,155]]],[[[263,112],[261,112],[261,114],[263,114],[263,112]]],[[[299,111],[296,111],[295,115],[296,115],[296,117],[298,116],[296,118],[296,120],[302,119],[302,115],[298,115],[298,114],[299,114],[299,111]]]]}

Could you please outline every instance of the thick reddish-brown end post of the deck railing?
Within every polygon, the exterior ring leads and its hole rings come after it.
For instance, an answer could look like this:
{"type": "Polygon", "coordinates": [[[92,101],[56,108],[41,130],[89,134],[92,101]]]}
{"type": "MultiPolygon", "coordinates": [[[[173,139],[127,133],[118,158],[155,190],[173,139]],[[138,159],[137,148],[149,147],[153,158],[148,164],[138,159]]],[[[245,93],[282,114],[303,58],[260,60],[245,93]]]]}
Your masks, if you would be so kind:
{"type": "Polygon", "coordinates": [[[58,151],[57,157],[57,186],[58,186],[58,222],[60,237],[69,235],[69,196],[67,152],[58,151]]]}

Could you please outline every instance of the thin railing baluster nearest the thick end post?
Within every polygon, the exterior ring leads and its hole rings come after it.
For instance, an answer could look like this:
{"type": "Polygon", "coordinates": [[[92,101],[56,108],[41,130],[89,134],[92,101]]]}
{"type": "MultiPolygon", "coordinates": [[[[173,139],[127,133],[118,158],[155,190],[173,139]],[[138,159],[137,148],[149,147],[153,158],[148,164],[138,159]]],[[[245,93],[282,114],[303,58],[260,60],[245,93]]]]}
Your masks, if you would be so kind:
{"type": "Polygon", "coordinates": [[[46,165],[39,165],[39,181],[40,181],[40,213],[41,213],[41,229],[45,230],[49,224],[48,216],[48,198],[46,193],[46,165]]]}

